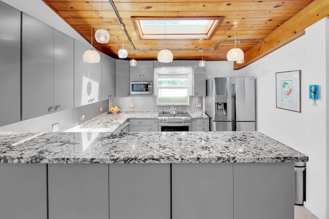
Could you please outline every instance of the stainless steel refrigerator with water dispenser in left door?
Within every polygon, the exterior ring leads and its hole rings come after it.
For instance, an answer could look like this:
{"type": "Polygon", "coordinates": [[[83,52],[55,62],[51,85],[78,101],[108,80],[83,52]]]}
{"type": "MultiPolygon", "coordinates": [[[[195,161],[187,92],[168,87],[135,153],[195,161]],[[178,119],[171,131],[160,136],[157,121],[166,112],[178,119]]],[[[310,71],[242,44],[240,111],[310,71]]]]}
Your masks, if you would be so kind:
{"type": "Polygon", "coordinates": [[[211,131],[255,130],[255,80],[253,77],[207,79],[205,111],[211,131]]]}

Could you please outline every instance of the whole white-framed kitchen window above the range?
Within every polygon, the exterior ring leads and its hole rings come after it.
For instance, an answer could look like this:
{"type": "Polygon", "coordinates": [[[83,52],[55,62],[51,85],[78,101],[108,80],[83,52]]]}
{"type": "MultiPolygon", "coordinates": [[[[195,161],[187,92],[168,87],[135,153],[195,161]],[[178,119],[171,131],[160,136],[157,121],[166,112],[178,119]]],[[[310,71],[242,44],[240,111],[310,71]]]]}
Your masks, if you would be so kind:
{"type": "Polygon", "coordinates": [[[192,68],[155,68],[154,78],[158,106],[190,104],[192,68]]]}

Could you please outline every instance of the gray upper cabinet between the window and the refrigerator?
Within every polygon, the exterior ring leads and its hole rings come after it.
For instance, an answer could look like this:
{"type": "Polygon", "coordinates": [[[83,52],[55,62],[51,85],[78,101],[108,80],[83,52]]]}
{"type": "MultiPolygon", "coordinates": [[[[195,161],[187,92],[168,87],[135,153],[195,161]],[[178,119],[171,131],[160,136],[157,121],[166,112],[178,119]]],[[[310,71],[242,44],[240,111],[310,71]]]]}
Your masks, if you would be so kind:
{"type": "Polygon", "coordinates": [[[199,61],[194,61],[194,95],[206,96],[206,67],[199,67],[199,61]]]}

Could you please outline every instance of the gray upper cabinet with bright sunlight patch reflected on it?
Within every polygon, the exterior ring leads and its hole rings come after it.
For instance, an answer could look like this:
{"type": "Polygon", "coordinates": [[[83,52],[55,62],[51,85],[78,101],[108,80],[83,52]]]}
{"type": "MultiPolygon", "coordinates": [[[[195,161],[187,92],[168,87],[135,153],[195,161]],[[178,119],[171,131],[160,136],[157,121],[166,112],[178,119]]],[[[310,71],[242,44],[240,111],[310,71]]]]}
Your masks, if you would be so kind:
{"type": "Polygon", "coordinates": [[[102,98],[102,60],[95,64],[83,62],[83,53],[91,46],[77,39],[74,43],[74,106],[80,107],[96,103],[102,98]]]}

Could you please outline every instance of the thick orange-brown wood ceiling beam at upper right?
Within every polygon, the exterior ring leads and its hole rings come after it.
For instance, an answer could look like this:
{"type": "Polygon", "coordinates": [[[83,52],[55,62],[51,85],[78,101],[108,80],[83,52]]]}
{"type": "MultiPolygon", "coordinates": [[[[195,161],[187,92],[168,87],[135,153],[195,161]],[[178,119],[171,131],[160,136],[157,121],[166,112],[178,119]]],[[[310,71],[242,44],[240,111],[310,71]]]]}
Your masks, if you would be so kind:
{"type": "Polygon", "coordinates": [[[262,42],[245,52],[245,62],[243,64],[236,64],[234,62],[233,69],[244,68],[265,55],[294,41],[296,38],[305,34],[304,30],[307,27],[326,16],[329,16],[329,1],[314,0],[275,31],[264,37],[262,42]]]}

